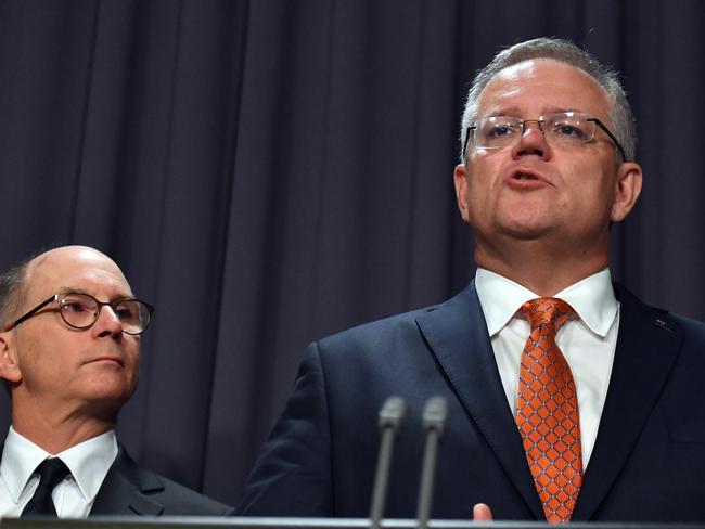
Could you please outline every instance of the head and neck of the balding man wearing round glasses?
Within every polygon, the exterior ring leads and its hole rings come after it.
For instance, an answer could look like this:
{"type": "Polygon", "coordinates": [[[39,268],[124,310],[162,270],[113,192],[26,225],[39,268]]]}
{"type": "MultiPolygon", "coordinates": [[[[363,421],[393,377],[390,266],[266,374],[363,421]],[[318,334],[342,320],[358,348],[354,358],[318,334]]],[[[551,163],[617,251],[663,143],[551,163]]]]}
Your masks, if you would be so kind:
{"type": "Polygon", "coordinates": [[[86,246],[55,248],[13,270],[0,333],[13,426],[49,451],[105,431],[137,386],[139,325],[149,324],[151,308],[132,299],[110,257],[86,246]]]}

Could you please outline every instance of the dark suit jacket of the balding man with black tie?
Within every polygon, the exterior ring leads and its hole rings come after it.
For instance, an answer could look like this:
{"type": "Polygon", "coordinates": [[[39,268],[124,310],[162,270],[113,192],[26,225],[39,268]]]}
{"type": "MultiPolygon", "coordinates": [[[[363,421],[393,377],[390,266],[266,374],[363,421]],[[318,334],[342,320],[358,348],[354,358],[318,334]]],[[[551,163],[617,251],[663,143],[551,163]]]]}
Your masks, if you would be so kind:
{"type": "Polygon", "coordinates": [[[222,516],[231,511],[232,507],[140,468],[120,446],[90,516],[222,516]]]}

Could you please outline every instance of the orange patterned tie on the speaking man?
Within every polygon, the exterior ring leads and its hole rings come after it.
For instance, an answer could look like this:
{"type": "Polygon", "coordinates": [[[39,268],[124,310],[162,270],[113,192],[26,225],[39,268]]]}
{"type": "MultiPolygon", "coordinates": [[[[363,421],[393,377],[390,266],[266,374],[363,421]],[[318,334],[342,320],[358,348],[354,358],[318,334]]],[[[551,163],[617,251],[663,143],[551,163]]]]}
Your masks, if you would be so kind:
{"type": "Polygon", "coordinates": [[[518,375],[516,425],[551,524],[569,521],[582,483],[578,398],[571,367],[555,333],[573,308],[556,298],[539,298],[520,309],[531,325],[518,375]]]}

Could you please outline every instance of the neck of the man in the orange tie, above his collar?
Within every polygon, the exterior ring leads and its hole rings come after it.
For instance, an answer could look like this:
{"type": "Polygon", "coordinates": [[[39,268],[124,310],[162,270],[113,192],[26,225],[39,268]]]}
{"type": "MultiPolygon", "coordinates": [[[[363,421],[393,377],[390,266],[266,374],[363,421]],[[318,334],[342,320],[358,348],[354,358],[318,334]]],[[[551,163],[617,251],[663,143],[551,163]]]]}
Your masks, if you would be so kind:
{"type": "Polygon", "coordinates": [[[475,250],[478,267],[508,278],[541,297],[554,296],[578,281],[607,267],[607,250],[564,251],[536,241],[522,241],[499,250],[478,242],[475,250]]]}

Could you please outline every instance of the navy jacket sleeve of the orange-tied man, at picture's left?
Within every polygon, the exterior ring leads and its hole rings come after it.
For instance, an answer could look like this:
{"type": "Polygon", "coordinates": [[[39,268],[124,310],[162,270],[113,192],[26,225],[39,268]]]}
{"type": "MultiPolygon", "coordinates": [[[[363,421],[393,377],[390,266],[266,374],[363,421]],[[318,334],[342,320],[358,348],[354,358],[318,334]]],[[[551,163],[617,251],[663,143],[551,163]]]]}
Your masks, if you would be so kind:
{"type": "Polygon", "coordinates": [[[245,516],[333,516],[331,431],[318,343],[308,347],[294,392],[242,494],[245,516]]]}

